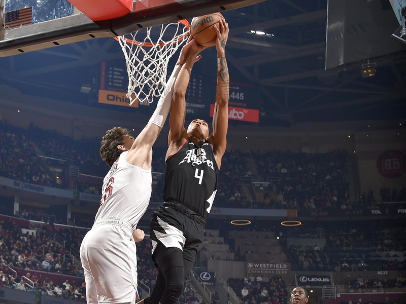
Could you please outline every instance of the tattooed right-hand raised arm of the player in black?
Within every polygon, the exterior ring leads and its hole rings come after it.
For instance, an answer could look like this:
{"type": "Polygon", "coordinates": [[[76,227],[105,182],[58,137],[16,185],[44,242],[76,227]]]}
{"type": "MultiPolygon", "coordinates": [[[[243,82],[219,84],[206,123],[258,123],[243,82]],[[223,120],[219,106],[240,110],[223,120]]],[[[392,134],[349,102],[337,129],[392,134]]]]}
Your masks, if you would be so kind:
{"type": "Polygon", "coordinates": [[[218,167],[221,166],[221,158],[227,145],[228,129],[228,97],[230,80],[228,76],[227,61],[225,59],[225,45],[228,38],[228,24],[224,19],[220,20],[214,28],[217,32],[217,93],[216,104],[213,114],[213,134],[209,140],[213,144],[214,156],[218,167]]]}

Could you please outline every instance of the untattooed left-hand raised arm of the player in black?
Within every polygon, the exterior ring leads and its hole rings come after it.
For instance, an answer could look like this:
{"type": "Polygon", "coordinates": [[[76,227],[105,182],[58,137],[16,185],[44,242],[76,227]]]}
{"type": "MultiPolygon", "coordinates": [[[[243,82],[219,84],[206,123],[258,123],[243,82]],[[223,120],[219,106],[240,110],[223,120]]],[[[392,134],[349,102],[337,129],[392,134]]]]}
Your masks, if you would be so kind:
{"type": "Polygon", "coordinates": [[[168,144],[170,146],[177,145],[181,138],[187,137],[185,130],[185,95],[187,87],[189,85],[190,73],[192,72],[193,65],[201,58],[198,53],[204,49],[204,46],[198,45],[194,40],[190,40],[188,44],[182,49],[182,51],[185,52],[185,60],[182,64],[174,86],[173,101],[171,105],[171,116],[169,119],[171,130],[168,135],[168,144]]]}

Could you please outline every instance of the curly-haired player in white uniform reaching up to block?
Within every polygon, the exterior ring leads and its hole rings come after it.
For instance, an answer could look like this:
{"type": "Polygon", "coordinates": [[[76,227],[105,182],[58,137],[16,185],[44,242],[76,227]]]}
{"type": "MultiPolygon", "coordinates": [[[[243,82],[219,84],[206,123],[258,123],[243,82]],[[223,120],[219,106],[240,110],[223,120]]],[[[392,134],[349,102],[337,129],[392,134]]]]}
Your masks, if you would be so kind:
{"type": "MultiPolygon", "coordinates": [[[[104,178],[100,207],[92,229],[80,246],[89,304],[135,303],[137,257],[134,241],[151,197],[152,145],[171,108],[172,91],[193,40],[182,48],[178,62],[147,126],[134,139],[115,127],[101,140],[100,156],[111,166],[104,178]]],[[[196,57],[196,61],[201,56],[196,57]]]]}

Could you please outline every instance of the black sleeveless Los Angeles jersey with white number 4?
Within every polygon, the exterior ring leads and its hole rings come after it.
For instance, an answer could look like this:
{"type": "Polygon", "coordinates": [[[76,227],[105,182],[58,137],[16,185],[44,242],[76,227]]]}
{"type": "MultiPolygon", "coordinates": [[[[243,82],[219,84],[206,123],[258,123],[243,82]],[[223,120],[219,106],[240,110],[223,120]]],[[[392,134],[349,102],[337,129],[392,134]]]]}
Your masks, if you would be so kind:
{"type": "Polygon", "coordinates": [[[166,161],[164,202],[180,203],[207,218],[217,192],[219,169],[207,141],[196,146],[188,140],[166,161]]]}

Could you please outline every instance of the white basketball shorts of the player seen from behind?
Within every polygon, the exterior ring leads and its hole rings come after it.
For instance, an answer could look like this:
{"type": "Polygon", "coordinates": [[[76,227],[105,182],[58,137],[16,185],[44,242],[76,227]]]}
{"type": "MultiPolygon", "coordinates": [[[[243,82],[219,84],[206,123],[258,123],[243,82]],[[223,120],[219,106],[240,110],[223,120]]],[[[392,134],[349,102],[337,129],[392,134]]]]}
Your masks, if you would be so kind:
{"type": "Polygon", "coordinates": [[[128,222],[107,218],[94,223],[80,246],[88,304],[136,302],[136,253],[128,222]]]}

